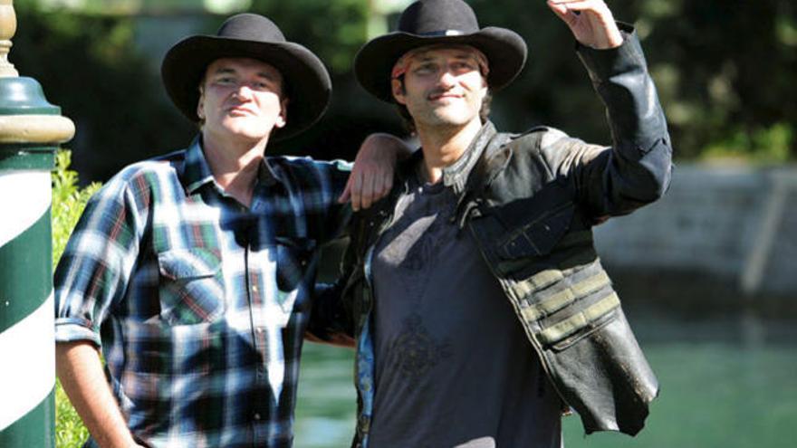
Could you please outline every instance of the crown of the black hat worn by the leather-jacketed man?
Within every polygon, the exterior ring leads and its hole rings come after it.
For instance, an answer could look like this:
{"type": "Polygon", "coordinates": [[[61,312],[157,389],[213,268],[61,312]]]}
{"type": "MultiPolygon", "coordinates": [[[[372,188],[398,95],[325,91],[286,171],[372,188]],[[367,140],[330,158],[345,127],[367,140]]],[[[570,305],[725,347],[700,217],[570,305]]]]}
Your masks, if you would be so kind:
{"type": "Polygon", "coordinates": [[[479,31],[476,14],[462,0],[418,0],[399,18],[399,31],[418,35],[450,35],[479,31]]]}

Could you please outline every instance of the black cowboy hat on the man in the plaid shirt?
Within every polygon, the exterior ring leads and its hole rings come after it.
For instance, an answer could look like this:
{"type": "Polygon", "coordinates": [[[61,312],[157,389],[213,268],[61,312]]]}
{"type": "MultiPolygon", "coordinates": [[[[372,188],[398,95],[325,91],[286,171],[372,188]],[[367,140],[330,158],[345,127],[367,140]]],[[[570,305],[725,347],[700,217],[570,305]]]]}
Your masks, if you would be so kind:
{"type": "Polygon", "coordinates": [[[169,98],[191,121],[198,122],[198,85],[207,66],[219,58],[252,58],[283,75],[290,102],[285,127],[274,140],[293,137],[321,118],[332,83],[323,63],[302,45],[287,42],[274,22],[257,14],[228,18],[216,35],[193,35],[176,43],[163,58],[160,74],[169,98]]]}

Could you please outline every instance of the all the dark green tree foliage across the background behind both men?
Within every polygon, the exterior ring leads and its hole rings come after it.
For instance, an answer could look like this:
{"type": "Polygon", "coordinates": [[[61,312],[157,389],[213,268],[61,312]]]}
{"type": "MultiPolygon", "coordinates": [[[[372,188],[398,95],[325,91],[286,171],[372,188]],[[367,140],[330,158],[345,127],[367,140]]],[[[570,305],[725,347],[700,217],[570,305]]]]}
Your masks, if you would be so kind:
{"type": "MultiPolygon", "coordinates": [[[[251,11],[269,16],[289,40],[319,54],[334,86],[330,109],[318,125],[270,147],[272,154],[353,158],[370,131],[401,132],[395,111],[370,98],[351,74],[351,61],[376,16],[374,2],[252,1],[251,11]]],[[[187,146],[196,129],[166,98],[159,59],[154,52],[142,52],[140,17],[43,13],[35,3],[14,4],[19,29],[11,59],[21,73],[40,81],[52,102],[75,121],[71,146],[82,179],[106,179],[133,160],[187,146]]],[[[521,76],[495,95],[493,119],[499,128],[548,124],[608,143],[603,106],[572,51],[571,34],[545,2],[469,3],[482,26],[514,29],[530,48],[521,76]]],[[[797,158],[797,4],[608,3],[616,18],[637,26],[677,157],[729,153],[762,161],[797,158]]],[[[185,19],[201,25],[197,33],[213,33],[225,17],[194,14],[185,19]]]]}

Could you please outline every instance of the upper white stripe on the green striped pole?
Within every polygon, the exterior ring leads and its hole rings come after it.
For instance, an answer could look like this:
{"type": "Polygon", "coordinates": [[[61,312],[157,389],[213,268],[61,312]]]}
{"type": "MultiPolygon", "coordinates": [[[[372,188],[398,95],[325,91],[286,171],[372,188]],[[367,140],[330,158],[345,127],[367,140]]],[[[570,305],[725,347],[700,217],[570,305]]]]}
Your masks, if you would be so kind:
{"type": "Polygon", "coordinates": [[[35,224],[53,201],[49,171],[0,172],[0,247],[35,224]]]}

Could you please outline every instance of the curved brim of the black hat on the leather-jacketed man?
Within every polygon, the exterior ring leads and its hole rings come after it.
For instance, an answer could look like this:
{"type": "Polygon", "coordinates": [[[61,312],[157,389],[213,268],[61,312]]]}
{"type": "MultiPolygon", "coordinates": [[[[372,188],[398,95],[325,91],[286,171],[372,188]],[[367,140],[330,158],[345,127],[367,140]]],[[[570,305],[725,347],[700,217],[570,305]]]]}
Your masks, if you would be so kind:
{"type": "Polygon", "coordinates": [[[393,65],[406,52],[439,43],[471,45],[485,53],[490,72],[487,84],[500,91],[523,70],[528,49],[523,38],[506,28],[488,26],[476,33],[424,36],[394,32],[379,36],[360,48],[354,59],[354,74],[360,85],[379,100],[395,102],[390,89],[393,65]]]}

